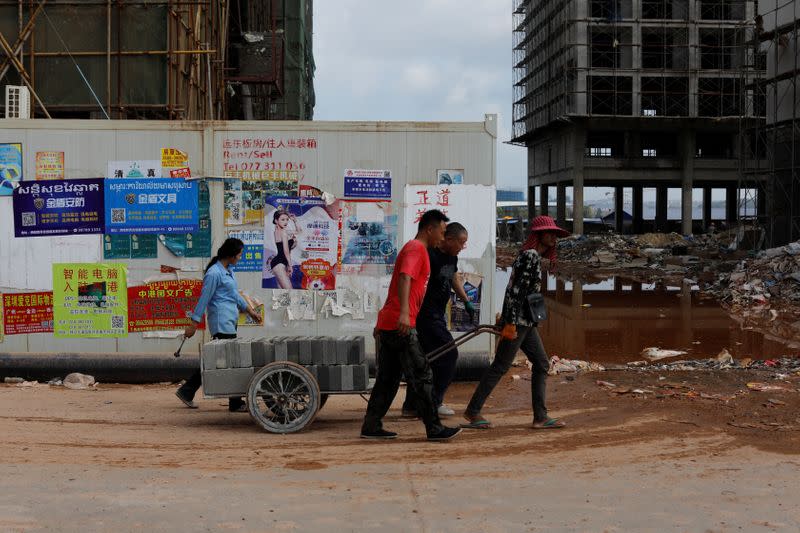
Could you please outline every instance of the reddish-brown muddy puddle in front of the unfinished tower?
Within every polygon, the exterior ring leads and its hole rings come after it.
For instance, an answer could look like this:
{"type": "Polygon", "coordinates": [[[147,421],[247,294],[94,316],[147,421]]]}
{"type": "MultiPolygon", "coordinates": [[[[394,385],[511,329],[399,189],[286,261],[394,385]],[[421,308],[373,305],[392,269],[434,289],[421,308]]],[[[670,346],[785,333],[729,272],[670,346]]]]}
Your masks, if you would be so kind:
{"type": "MultiPolygon", "coordinates": [[[[508,275],[497,272],[499,302],[508,275]]],[[[697,287],[647,284],[612,277],[565,281],[549,277],[543,290],[548,319],[539,332],[550,355],[601,363],[642,359],[656,346],[683,350],[681,358],[716,357],[725,348],[735,358],[796,356],[795,344],[742,329],[715,299],[697,287]]]]}

